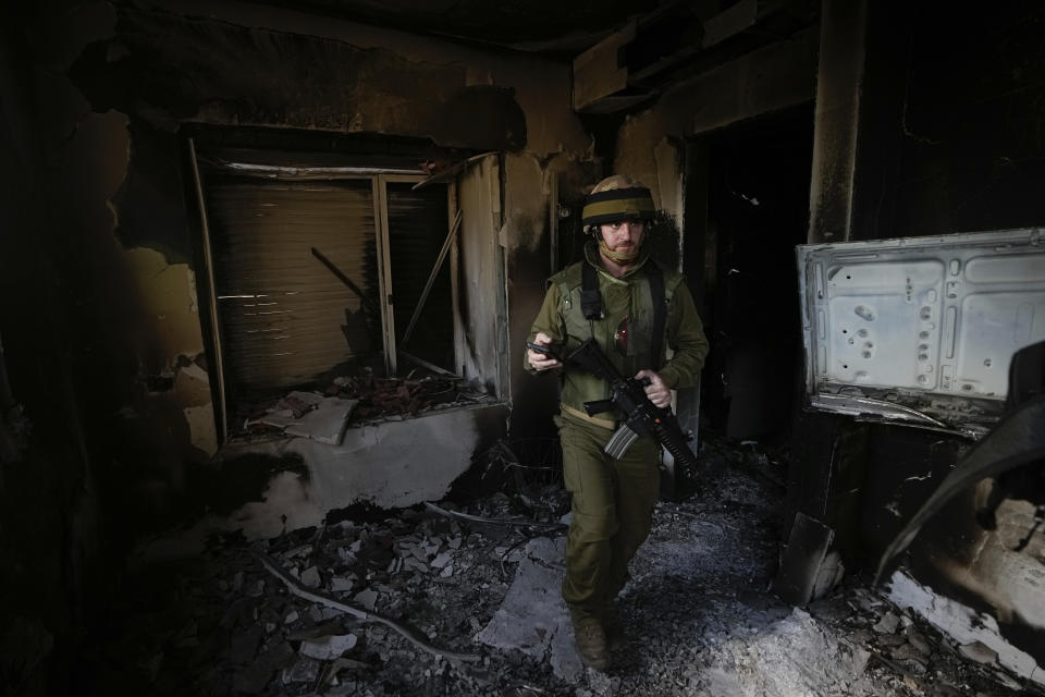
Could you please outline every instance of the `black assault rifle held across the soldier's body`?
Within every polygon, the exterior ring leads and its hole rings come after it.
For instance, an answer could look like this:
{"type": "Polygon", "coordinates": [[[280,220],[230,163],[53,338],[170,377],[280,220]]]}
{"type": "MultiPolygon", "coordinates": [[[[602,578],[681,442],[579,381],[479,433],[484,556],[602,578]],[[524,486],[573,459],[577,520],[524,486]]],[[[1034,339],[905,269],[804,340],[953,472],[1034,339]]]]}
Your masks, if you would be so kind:
{"type": "Polygon", "coordinates": [[[627,452],[631,443],[641,436],[652,435],[661,442],[664,450],[672,453],[675,462],[685,466],[689,472],[698,472],[700,465],[693,456],[693,451],[686,443],[692,436],[683,432],[678,419],[671,407],[660,407],[650,402],[646,395],[648,378],[638,380],[625,377],[617,367],[610,362],[594,339],[587,339],[566,358],[560,357],[549,346],[527,342],[529,348],[542,353],[551,358],[557,358],[563,364],[576,365],[595,377],[610,383],[611,398],[585,402],[585,411],[589,416],[618,408],[625,415],[625,421],[606,443],[604,452],[612,457],[620,457],[627,452]]]}

